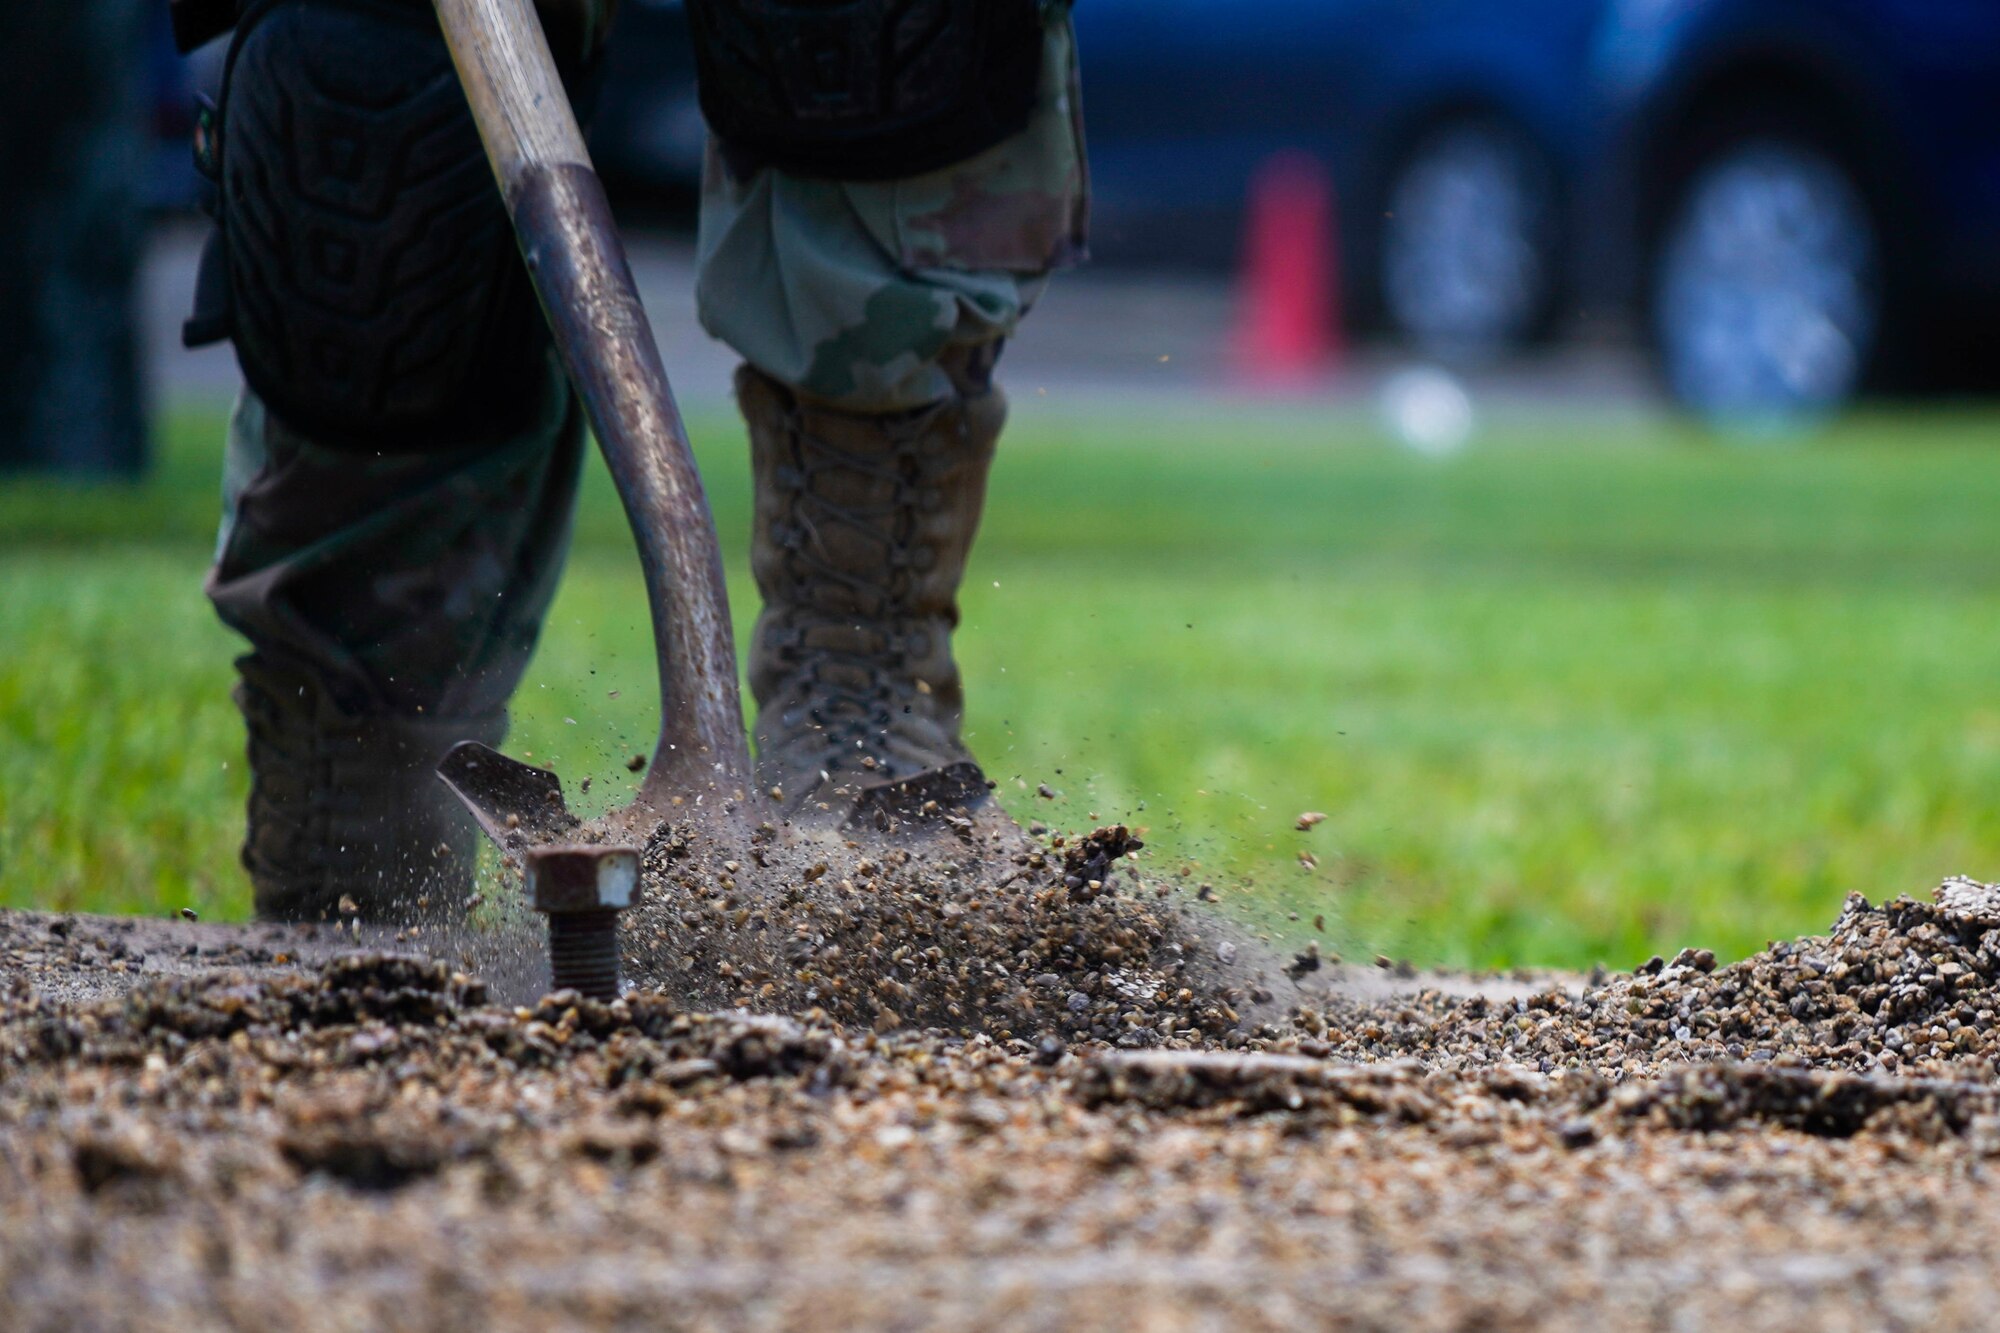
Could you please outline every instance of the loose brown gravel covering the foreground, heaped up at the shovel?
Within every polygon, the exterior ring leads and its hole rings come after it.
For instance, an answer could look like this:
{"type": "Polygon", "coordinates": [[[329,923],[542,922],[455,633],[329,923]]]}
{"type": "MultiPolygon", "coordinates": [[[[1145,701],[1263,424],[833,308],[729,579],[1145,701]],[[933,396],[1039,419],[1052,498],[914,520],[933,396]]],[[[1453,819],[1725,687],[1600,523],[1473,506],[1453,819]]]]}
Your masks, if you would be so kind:
{"type": "Polygon", "coordinates": [[[662,841],[698,985],[614,1005],[0,915],[0,1325],[1990,1323],[2000,893],[1482,987],[1274,971],[1120,839],[784,901],[662,841]]]}

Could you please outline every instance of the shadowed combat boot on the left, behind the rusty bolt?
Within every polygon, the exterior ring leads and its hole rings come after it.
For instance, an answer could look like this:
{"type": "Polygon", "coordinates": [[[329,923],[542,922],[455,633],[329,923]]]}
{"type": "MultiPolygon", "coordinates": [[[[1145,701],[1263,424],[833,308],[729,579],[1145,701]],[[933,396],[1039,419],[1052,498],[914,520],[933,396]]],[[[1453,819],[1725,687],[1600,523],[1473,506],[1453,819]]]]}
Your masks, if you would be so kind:
{"type": "Polygon", "coordinates": [[[506,717],[350,717],[304,671],[236,658],[250,727],[244,869],[262,921],[440,921],[472,891],[478,827],[436,769],[506,717]],[[350,907],[342,907],[342,899],[350,907]]]}

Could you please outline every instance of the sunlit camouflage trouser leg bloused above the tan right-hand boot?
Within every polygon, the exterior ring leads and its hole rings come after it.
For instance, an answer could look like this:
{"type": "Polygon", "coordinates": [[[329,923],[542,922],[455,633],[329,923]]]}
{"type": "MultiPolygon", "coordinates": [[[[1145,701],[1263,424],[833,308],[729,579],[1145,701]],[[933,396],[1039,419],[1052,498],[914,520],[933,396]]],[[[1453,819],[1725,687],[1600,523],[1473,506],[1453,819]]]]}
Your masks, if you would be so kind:
{"type": "Polygon", "coordinates": [[[1046,6],[1028,128],[938,172],[886,182],[730,176],[710,146],[696,296],[752,366],[836,406],[892,412],[950,392],[948,346],[1006,338],[1088,220],[1068,6],[1046,6]]]}

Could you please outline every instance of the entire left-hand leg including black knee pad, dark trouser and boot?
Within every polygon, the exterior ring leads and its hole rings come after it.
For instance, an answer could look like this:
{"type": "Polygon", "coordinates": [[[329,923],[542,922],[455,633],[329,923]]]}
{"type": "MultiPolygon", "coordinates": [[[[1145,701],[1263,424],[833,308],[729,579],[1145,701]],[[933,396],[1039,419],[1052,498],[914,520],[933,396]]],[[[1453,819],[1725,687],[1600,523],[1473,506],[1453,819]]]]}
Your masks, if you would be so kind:
{"type": "MultiPolygon", "coordinates": [[[[602,8],[552,14],[558,52],[602,8]]],[[[248,382],[208,592],[250,640],[256,911],[450,913],[476,831],[434,767],[506,727],[582,420],[428,4],[250,6],[210,142],[190,334],[248,382]]]]}

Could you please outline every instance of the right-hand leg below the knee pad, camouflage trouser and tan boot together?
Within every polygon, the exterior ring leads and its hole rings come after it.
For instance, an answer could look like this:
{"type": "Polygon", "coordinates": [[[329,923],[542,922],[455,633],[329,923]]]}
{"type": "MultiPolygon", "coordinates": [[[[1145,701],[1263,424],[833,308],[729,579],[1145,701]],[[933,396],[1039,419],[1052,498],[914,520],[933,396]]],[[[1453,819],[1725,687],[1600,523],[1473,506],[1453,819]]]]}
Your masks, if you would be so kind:
{"type": "Polygon", "coordinates": [[[798,815],[970,765],[950,632],[1006,418],[992,370],[1088,210],[1068,8],[1040,8],[1024,128],[948,166],[842,182],[710,148],[698,300],[746,360],[758,773],[798,815]]]}

